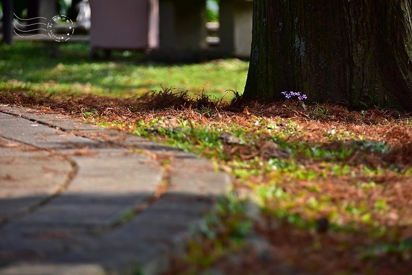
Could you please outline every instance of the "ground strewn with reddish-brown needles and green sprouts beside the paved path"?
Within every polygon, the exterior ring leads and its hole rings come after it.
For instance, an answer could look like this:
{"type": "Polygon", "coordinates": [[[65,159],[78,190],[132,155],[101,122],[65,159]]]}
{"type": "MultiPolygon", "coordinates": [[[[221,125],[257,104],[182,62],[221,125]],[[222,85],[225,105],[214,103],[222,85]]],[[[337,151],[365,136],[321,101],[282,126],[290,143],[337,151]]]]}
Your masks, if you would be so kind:
{"type": "Polygon", "coordinates": [[[170,274],[412,272],[411,114],[173,92],[53,99],[14,90],[0,102],[148,137],[232,175],[233,193],[205,216],[170,274]],[[251,234],[264,250],[249,246],[251,234]]]}

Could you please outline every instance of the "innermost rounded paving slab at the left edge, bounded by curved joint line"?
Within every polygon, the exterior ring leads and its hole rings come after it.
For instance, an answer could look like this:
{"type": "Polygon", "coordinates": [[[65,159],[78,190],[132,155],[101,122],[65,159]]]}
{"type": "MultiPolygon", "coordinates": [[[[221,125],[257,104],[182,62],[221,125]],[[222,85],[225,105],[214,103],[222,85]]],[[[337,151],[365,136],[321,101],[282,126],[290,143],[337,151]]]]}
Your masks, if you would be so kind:
{"type": "Polygon", "coordinates": [[[73,171],[63,156],[0,137],[0,224],[58,194],[73,171]]]}

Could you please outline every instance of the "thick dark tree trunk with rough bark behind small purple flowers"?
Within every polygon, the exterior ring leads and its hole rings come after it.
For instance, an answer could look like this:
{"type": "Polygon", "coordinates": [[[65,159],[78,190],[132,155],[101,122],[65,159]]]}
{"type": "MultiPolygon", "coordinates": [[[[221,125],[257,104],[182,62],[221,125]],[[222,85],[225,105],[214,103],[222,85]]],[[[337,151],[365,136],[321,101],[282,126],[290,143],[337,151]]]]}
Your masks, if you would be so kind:
{"type": "Polygon", "coordinates": [[[254,0],[242,98],[412,111],[412,0],[254,0]]]}

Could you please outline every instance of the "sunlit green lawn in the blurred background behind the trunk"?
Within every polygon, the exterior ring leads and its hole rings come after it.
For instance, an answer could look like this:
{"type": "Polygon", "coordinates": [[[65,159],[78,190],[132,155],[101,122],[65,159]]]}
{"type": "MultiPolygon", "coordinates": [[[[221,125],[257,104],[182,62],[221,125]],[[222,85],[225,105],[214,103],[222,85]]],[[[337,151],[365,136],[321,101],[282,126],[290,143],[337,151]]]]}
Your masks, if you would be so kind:
{"type": "MultiPolygon", "coordinates": [[[[56,95],[94,94],[131,97],[151,90],[221,98],[226,90],[243,92],[249,62],[238,59],[200,64],[143,62],[143,54],[115,51],[108,60],[92,60],[85,43],[18,41],[0,45],[0,89],[24,89],[56,95]]],[[[225,100],[233,93],[229,92],[225,100]]]]}

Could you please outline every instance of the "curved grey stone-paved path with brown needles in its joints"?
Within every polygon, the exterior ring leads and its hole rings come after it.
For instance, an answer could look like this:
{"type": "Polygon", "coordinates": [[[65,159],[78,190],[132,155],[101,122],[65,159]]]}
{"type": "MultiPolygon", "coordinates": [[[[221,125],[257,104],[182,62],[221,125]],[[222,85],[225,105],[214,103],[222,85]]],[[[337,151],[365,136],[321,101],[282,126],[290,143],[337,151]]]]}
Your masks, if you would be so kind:
{"type": "Polygon", "coordinates": [[[230,184],[196,155],[0,105],[0,275],[158,274],[230,184]]]}

